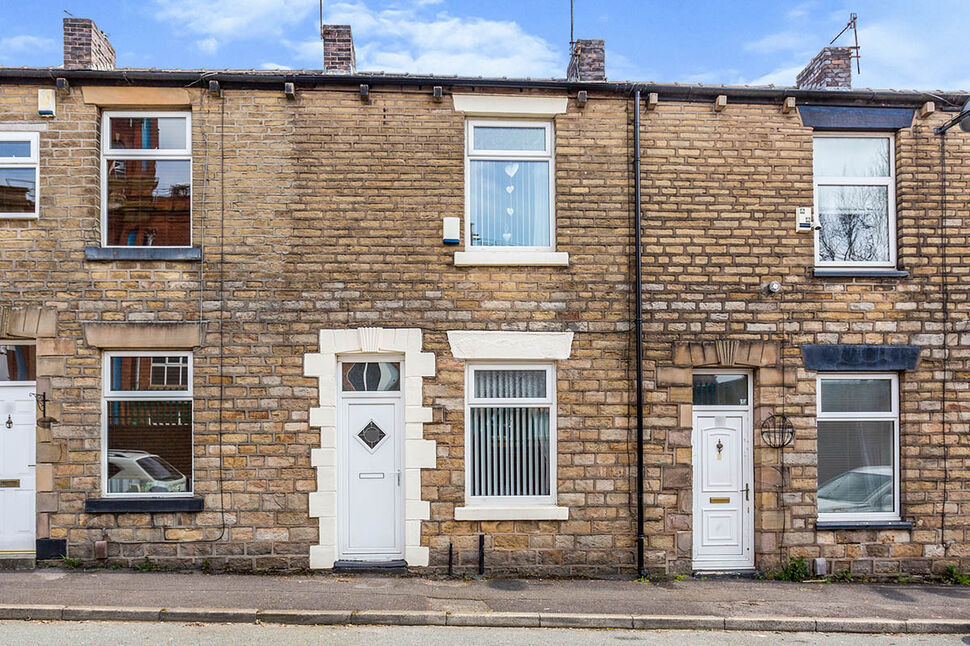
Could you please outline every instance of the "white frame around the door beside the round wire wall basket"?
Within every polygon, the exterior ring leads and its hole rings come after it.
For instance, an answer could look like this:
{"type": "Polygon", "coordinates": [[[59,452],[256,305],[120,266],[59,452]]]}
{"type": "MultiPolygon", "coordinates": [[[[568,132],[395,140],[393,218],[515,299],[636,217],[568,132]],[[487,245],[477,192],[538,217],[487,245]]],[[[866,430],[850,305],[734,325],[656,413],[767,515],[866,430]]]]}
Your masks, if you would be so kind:
{"type": "MultiPolygon", "coordinates": [[[[691,415],[691,486],[693,487],[693,505],[691,528],[693,534],[691,559],[693,560],[694,570],[746,570],[754,569],[754,373],[751,370],[731,369],[731,368],[707,368],[695,369],[694,374],[701,375],[746,375],[748,377],[748,404],[747,406],[698,406],[692,407],[691,415]],[[727,415],[737,415],[741,413],[744,418],[743,429],[741,431],[741,476],[742,482],[750,489],[747,500],[742,499],[742,522],[741,522],[741,549],[747,556],[738,561],[725,561],[723,565],[718,565],[713,561],[701,560],[698,562],[696,556],[700,537],[700,508],[701,508],[701,486],[700,469],[698,468],[697,458],[699,449],[699,438],[697,437],[697,413],[723,412],[727,415]]],[[[742,489],[742,491],[744,491],[742,489]]]]}

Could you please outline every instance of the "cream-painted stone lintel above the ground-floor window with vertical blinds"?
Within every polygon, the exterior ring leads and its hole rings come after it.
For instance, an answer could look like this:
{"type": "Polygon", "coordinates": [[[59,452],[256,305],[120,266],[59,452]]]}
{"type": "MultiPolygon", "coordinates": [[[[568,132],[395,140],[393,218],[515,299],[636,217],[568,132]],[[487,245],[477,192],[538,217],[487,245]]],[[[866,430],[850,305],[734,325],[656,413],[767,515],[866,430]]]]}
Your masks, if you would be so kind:
{"type": "Polygon", "coordinates": [[[572,332],[448,332],[456,359],[568,359],[572,332]]]}

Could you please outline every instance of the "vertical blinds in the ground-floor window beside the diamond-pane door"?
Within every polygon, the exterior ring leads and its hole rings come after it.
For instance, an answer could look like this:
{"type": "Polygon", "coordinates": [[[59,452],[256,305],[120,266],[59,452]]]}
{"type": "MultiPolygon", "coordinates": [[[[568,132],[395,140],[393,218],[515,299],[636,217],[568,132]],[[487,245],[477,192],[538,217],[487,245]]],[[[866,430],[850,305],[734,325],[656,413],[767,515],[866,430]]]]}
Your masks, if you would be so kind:
{"type": "Polygon", "coordinates": [[[470,406],[471,496],[548,496],[551,402],[502,405],[514,399],[546,399],[544,370],[478,370],[470,406]]]}

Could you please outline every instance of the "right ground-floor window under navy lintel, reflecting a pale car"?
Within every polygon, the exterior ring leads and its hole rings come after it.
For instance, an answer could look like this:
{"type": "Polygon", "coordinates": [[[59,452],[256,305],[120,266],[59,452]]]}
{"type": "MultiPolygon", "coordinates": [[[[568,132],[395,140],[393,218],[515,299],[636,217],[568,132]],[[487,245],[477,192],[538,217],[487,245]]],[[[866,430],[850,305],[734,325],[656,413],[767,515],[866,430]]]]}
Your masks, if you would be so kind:
{"type": "Polygon", "coordinates": [[[895,373],[818,377],[818,519],[899,520],[895,373]]]}

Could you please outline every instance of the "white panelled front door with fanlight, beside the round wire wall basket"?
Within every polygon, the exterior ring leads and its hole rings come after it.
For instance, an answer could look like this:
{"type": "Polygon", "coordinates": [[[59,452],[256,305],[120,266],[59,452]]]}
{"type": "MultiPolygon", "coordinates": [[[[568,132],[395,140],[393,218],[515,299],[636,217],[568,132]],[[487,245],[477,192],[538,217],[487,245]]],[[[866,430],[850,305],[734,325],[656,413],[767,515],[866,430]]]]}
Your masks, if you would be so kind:
{"type": "MultiPolygon", "coordinates": [[[[702,401],[694,405],[695,570],[739,570],[754,567],[754,468],[750,392],[747,375],[716,373],[726,389],[712,395],[715,374],[702,375],[702,401]],[[743,378],[743,384],[741,383],[743,378]],[[727,401],[727,405],[717,405],[727,401]]],[[[698,380],[695,377],[695,402],[698,380]]]]}

